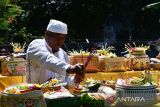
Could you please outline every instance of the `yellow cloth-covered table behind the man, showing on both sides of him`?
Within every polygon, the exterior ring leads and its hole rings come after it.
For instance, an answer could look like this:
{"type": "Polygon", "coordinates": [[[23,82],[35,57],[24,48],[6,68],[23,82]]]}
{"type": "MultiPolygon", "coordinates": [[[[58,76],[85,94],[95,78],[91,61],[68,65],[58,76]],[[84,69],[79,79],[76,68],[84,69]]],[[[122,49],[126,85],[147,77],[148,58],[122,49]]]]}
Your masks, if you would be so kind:
{"type": "MultiPolygon", "coordinates": [[[[153,70],[151,72],[153,72],[153,76],[155,76],[157,80],[160,80],[160,71],[153,70]]],[[[140,77],[141,75],[142,75],[142,71],[96,72],[96,73],[87,72],[85,75],[85,79],[92,77],[96,80],[117,80],[118,78],[127,79],[133,76],[140,77]]],[[[3,89],[5,89],[10,85],[25,83],[25,82],[26,82],[25,76],[2,76],[0,74],[0,91],[2,91],[3,89]]]]}

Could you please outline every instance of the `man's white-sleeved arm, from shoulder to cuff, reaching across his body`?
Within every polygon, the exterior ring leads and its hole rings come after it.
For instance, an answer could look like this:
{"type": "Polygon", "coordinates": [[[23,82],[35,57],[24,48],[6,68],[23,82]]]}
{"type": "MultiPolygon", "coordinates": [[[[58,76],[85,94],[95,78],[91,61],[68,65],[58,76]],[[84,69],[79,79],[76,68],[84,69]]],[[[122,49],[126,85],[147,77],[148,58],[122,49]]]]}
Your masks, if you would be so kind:
{"type": "Polygon", "coordinates": [[[66,69],[71,66],[50,53],[44,44],[39,41],[33,41],[29,45],[27,49],[27,58],[30,58],[31,62],[39,63],[45,69],[61,75],[65,75],[66,69]]]}

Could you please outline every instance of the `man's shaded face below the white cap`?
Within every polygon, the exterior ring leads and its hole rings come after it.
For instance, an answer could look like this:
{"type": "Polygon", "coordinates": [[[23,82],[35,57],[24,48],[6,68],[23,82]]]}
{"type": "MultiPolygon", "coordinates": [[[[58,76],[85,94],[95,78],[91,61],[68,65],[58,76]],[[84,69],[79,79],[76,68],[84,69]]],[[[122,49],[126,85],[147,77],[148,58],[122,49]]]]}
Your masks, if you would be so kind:
{"type": "Polygon", "coordinates": [[[45,39],[53,50],[58,50],[64,44],[65,37],[65,34],[53,33],[50,31],[45,32],[45,39]]]}

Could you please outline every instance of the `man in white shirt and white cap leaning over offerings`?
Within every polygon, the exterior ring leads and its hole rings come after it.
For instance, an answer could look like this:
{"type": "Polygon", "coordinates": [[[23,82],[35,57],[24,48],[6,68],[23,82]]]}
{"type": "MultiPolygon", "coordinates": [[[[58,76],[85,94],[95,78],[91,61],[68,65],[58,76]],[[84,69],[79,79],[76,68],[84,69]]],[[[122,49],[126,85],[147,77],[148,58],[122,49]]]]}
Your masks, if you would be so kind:
{"type": "Polygon", "coordinates": [[[67,35],[67,25],[51,19],[44,39],[33,40],[27,49],[29,83],[44,83],[50,78],[71,83],[70,73],[75,73],[75,82],[84,79],[82,64],[70,65],[66,52],[61,48],[67,35]]]}

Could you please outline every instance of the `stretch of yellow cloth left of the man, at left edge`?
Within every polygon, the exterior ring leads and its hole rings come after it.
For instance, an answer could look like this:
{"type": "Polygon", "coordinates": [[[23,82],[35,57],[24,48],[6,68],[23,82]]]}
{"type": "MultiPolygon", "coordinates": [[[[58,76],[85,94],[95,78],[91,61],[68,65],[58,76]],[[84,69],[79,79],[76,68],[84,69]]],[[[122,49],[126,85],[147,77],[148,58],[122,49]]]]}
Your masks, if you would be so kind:
{"type": "Polygon", "coordinates": [[[1,76],[0,75],[0,91],[4,90],[6,87],[18,83],[26,82],[25,76],[1,76]]]}

